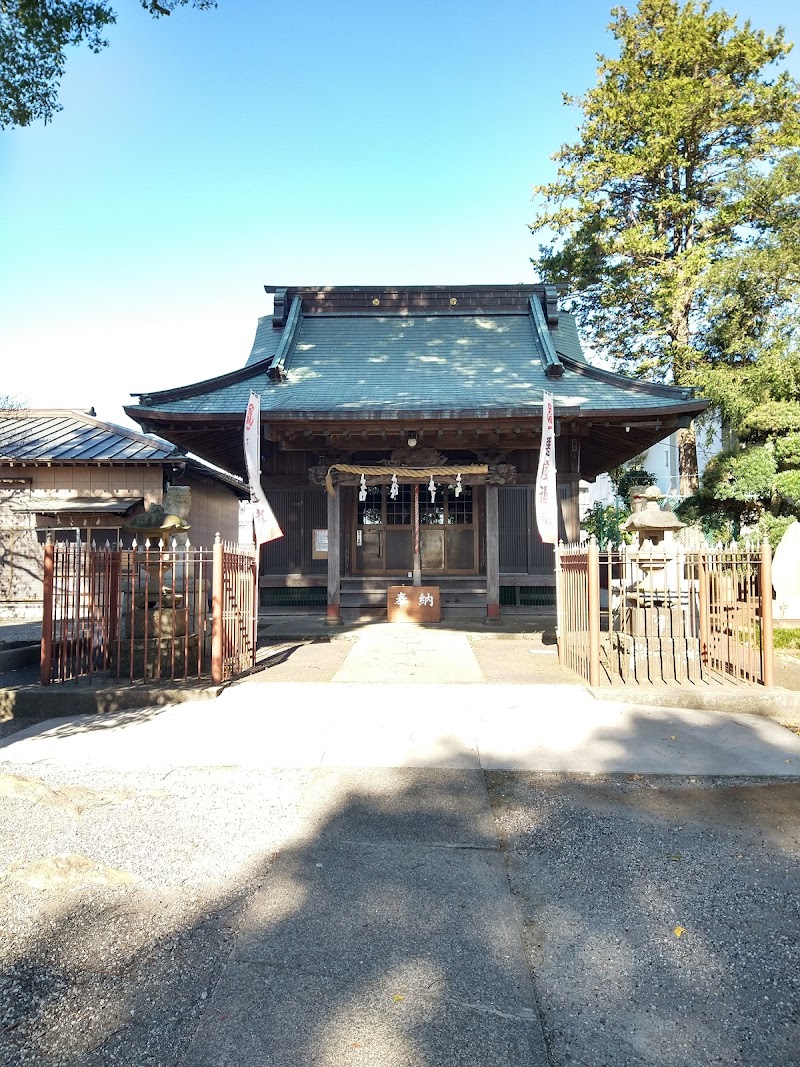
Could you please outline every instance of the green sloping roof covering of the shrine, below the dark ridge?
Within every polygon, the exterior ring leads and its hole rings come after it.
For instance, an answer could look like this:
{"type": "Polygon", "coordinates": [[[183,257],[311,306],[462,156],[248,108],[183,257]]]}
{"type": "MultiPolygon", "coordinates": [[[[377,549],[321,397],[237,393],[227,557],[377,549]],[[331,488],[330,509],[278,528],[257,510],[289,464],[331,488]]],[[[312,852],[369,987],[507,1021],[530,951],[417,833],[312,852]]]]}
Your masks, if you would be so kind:
{"type": "Polygon", "coordinates": [[[284,381],[268,378],[270,353],[283,331],[259,320],[242,370],[179,389],[142,397],[129,408],[175,414],[243,413],[251,388],[266,418],[382,417],[399,413],[537,414],[542,393],[557,407],[582,413],[663,411],[692,401],[687,389],[602,371],[583,359],[571,316],[550,330],[563,356],[563,376],[545,373],[534,317],[502,314],[310,314],[300,319],[284,381]]]}

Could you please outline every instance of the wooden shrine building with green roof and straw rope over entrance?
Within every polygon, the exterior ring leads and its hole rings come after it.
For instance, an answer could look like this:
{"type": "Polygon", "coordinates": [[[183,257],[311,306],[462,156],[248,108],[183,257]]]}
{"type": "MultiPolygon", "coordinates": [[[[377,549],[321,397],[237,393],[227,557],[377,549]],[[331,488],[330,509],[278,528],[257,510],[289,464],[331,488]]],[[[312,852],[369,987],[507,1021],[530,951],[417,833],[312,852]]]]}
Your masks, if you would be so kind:
{"type": "Polygon", "coordinates": [[[336,621],[385,607],[387,587],[412,578],[415,539],[445,617],[546,607],[543,392],[555,399],[566,541],[579,537],[580,479],[706,407],[690,389],[590,365],[551,286],[265,288],[274,309],[243,367],[126,408],[144,430],[244,475],[244,414],[251,389],[260,396],[261,481],[285,535],[261,550],[262,611],[319,607],[336,621]]]}

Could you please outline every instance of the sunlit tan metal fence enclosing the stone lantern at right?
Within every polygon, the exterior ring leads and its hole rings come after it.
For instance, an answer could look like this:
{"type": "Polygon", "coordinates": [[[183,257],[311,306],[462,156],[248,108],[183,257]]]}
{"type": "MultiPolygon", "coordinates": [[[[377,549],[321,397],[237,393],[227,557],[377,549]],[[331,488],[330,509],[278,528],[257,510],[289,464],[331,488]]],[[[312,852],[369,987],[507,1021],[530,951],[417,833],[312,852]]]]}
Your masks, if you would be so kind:
{"type": "Polygon", "coordinates": [[[774,684],[768,544],[560,544],[559,658],[590,685],[774,684]]]}

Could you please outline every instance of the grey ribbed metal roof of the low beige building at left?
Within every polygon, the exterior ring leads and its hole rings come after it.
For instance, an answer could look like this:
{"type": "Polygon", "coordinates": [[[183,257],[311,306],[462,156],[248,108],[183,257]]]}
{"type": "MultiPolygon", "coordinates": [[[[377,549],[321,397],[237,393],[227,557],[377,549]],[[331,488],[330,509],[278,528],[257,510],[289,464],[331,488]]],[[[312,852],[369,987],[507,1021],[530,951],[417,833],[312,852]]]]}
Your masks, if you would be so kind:
{"type": "Polygon", "coordinates": [[[75,410],[0,411],[0,462],[159,462],[175,445],[75,410]]]}

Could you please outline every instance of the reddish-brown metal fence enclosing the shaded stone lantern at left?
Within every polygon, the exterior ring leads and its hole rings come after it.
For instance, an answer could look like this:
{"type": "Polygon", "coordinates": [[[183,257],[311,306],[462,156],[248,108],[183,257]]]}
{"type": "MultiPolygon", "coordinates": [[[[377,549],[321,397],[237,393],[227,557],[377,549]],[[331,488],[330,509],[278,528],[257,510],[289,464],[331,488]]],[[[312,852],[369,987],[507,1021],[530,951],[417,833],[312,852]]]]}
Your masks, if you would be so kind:
{"type": "Polygon", "coordinates": [[[219,538],[46,544],[43,607],[43,685],[220,683],[255,664],[255,554],[219,538]]]}

